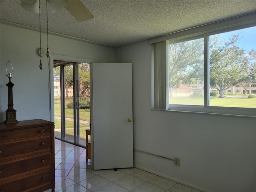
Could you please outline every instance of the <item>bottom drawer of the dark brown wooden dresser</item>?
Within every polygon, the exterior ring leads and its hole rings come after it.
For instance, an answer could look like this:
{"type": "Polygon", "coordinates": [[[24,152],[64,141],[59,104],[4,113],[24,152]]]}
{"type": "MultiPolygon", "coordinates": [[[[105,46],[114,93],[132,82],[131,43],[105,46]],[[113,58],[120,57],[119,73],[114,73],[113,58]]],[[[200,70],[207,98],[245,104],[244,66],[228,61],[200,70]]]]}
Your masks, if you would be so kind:
{"type": "Polygon", "coordinates": [[[1,192],[37,191],[37,188],[51,186],[52,172],[50,169],[21,177],[18,180],[1,182],[1,192]]]}

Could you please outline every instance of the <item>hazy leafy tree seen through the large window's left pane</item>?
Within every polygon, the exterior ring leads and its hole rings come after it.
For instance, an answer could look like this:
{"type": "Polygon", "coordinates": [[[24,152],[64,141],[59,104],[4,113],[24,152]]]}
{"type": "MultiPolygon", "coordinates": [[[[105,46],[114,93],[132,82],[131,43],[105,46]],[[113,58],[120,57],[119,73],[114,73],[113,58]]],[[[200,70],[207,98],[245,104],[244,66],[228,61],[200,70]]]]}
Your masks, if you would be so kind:
{"type": "Polygon", "coordinates": [[[204,40],[196,39],[169,45],[169,88],[204,79],[204,40]]]}

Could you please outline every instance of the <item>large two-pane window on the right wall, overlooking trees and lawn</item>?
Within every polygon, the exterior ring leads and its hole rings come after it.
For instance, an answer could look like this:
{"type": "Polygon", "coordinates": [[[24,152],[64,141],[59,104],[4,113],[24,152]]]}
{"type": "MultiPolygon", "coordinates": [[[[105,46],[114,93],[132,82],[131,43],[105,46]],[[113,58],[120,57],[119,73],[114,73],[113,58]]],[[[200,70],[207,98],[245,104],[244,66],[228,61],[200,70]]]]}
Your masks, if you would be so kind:
{"type": "Polygon", "coordinates": [[[255,34],[255,26],[240,26],[167,40],[169,109],[218,113],[255,109],[256,97],[247,95],[249,84],[256,83],[255,34]],[[234,90],[238,84],[246,91],[233,95],[239,92],[234,90]]]}

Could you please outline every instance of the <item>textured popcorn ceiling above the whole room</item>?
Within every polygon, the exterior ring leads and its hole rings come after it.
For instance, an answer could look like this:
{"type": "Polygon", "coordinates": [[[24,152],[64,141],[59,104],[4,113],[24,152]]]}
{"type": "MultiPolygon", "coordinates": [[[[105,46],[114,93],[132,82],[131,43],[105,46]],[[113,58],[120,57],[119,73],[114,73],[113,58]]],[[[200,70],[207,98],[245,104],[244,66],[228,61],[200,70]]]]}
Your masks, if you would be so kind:
{"type": "MultiPolygon", "coordinates": [[[[78,22],[63,9],[48,6],[48,30],[93,42],[124,46],[180,30],[256,12],[255,0],[82,0],[94,18],[78,22]]],[[[1,22],[39,28],[39,14],[19,0],[1,4],[1,22]]],[[[41,27],[46,30],[46,1],[41,0],[41,27]]]]}

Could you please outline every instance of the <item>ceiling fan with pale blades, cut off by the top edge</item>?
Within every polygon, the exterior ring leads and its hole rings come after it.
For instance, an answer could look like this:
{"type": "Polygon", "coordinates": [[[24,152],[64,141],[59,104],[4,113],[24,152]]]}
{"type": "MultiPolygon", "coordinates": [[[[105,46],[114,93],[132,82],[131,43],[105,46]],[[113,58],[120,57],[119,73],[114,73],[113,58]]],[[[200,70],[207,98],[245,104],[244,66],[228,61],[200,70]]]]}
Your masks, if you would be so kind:
{"type": "MultiPolygon", "coordinates": [[[[79,0],[47,0],[52,12],[58,12],[66,8],[70,14],[78,21],[85,21],[94,18],[92,13],[79,0]]],[[[21,0],[20,6],[30,12],[38,13],[39,0],[21,0]]]]}

